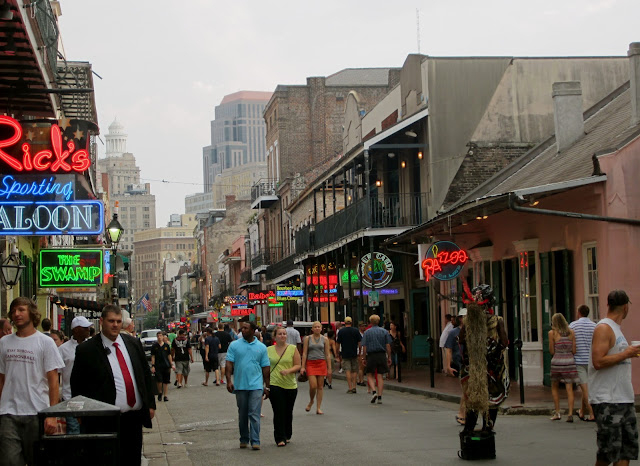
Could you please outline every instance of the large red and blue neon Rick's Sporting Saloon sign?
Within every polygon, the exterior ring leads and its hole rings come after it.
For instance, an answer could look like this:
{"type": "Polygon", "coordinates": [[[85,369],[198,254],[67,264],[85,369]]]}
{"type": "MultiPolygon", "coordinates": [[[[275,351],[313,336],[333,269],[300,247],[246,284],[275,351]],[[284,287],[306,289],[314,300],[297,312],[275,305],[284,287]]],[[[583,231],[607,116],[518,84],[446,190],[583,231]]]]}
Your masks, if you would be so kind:
{"type": "Polygon", "coordinates": [[[93,124],[0,115],[0,235],[99,235],[104,206],[84,172],[93,124]]]}

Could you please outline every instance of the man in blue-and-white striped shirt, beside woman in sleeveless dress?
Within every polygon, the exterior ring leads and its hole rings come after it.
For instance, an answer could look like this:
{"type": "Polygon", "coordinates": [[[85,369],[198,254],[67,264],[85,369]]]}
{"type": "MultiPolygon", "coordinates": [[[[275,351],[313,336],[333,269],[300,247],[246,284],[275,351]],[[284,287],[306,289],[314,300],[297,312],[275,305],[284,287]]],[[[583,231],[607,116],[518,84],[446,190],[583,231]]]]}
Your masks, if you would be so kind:
{"type": "Polygon", "coordinates": [[[589,318],[589,306],[582,304],[578,307],[578,320],[569,324],[576,336],[576,369],[580,378],[580,409],[578,417],[583,421],[595,422],[593,410],[589,404],[589,355],[591,354],[591,340],[596,323],[589,318]]]}

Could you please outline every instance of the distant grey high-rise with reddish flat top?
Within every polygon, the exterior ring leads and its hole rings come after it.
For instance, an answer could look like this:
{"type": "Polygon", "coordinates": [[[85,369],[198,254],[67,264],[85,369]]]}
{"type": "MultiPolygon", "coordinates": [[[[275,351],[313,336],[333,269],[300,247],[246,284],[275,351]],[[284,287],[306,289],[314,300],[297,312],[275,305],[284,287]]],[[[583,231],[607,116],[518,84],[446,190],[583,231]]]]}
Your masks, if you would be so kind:
{"type": "Polygon", "coordinates": [[[223,208],[225,195],[250,199],[251,186],[266,177],[266,126],[262,113],[271,92],[229,94],[215,108],[211,144],[203,148],[204,192],[213,207],[223,208]]]}

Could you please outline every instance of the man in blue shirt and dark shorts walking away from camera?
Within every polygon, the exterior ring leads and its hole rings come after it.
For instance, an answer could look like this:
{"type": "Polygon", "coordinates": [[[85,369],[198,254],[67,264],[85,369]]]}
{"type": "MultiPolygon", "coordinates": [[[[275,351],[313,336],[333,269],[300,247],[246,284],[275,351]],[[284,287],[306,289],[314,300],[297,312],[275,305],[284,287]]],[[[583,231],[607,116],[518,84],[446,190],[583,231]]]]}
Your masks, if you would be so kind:
{"type": "Polygon", "coordinates": [[[363,356],[366,361],[367,382],[372,391],[371,403],[382,404],[384,381],[382,376],[389,372],[391,364],[391,335],[379,326],[380,316],[369,317],[371,328],[362,337],[363,356]]]}

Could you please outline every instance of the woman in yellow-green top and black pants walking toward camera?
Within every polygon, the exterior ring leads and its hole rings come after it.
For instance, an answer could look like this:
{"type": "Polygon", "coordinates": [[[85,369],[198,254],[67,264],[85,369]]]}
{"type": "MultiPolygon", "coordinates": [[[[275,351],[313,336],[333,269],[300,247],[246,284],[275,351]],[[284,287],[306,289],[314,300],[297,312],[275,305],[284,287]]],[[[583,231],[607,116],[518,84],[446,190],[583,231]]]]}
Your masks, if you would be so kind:
{"type": "Polygon", "coordinates": [[[301,367],[300,352],[296,345],[287,344],[287,330],[275,329],[275,344],[267,348],[270,363],[273,408],[273,436],[276,445],[284,447],[293,436],[293,407],[298,395],[296,372],[301,367]]]}

